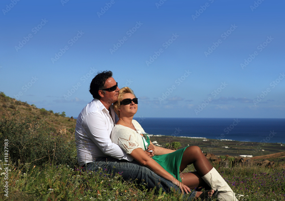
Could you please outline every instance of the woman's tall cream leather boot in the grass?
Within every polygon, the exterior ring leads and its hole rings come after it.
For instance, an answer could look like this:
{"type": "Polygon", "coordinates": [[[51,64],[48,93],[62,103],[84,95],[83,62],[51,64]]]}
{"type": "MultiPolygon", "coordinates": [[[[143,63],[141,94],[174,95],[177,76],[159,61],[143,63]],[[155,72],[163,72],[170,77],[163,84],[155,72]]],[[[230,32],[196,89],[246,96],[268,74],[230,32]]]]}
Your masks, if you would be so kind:
{"type": "Polygon", "coordinates": [[[218,190],[217,200],[238,201],[233,190],[227,182],[221,177],[218,171],[213,167],[202,179],[213,189],[218,190]]]}

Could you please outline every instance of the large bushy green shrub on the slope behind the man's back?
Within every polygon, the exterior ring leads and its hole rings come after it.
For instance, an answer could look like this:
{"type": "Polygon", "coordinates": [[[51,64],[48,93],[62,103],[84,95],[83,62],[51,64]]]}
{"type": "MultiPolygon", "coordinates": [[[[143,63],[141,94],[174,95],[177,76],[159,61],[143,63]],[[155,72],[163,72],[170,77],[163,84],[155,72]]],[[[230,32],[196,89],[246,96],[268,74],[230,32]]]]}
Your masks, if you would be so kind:
{"type": "MultiPolygon", "coordinates": [[[[75,164],[76,148],[62,136],[51,135],[47,124],[37,116],[22,117],[19,110],[2,115],[0,119],[0,140],[9,141],[9,160],[12,163],[45,162],[75,164]]],[[[0,146],[4,153],[4,146],[0,146]]]]}

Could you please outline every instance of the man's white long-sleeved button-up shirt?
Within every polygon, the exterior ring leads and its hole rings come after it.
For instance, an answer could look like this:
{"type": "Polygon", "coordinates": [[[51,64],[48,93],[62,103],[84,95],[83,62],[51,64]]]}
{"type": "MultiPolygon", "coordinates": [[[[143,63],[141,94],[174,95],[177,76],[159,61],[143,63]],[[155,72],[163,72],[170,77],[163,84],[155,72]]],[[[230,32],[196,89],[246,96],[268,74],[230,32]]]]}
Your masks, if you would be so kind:
{"type": "Polygon", "coordinates": [[[131,156],[127,155],[124,150],[110,139],[114,122],[118,121],[113,105],[110,106],[110,110],[113,119],[101,101],[94,98],[79,114],[75,129],[79,165],[107,156],[128,161],[133,160],[131,156]]]}

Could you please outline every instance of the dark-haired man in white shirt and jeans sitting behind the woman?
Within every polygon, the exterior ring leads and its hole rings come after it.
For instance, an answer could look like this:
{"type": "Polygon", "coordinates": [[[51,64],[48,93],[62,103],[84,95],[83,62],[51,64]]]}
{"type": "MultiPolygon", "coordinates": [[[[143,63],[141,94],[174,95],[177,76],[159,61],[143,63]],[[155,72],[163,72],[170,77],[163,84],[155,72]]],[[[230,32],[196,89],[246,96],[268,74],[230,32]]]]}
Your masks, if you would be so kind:
{"type": "MultiPolygon", "coordinates": [[[[131,156],[111,142],[111,131],[118,121],[112,104],[117,101],[120,91],[112,75],[111,71],[100,72],[90,84],[89,91],[94,99],[84,107],[76,122],[78,164],[91,171],[107,169],[110,175],[120,172],[123,179],[137,179],[140,183],[146,183],[148,189],[156,187],[156,190],[162,188],[170,192],[170,188],[174,187],[180,190],[172,182],[133,161],[131,156]]],[[[153,150],[153,147],[148,147],[150,149],[153,150]]],[[[193,191],[189,198],[195,194],[193,191]]]]}

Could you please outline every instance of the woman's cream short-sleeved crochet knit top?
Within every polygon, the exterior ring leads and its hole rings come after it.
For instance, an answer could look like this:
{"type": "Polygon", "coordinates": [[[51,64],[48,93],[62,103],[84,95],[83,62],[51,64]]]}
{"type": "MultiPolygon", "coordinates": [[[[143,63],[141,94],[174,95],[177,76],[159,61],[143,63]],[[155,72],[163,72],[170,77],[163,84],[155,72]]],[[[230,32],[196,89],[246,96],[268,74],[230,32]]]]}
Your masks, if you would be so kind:
{"type": "Polygon", "coordinates": [[[141,125],[133,119],[135,129],[125,127],[123,125],[115,125],[111,132],[111,140],[118,144],[127,154],[132,153],[136,148],[144,148],[143,138],[140,134],[145,133],[141,125]]]}

